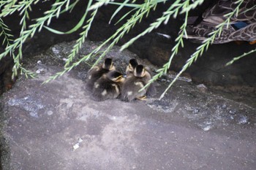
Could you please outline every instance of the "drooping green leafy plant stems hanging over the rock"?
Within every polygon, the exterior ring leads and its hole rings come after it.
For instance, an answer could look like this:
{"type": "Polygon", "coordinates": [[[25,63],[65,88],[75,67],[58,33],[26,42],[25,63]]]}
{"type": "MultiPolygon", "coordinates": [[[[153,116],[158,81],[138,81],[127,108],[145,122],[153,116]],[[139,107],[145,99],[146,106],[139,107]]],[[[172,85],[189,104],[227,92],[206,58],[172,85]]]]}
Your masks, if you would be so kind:
{"type": "MultiPolygon", "coordinates": [[[[78,4],[78,1],[79,0],[75,0],[75,1],[56,0],[55,2],[53,2],[51,8],[44,12],[44,15],[42,15],[42,17],[36,18],[36,19],[31,19],[29,16],[29,12],[31,12],[32,6],[34,4],[39,3],[39,0],[0,1],[0,9],[1,9],[0,17],[1,18],[5,18],[8,15],[12,15],[14,12],[18,12],[19,15],[21,16],[20,36],[14,40],[13,40],[12,34],[10,34],[10,29],[8,28],[8,26],[6,26],[4,24],[4,21],[0,19],[0,29],[1,29],[0,36],[4,37],[3,45],[5,45],[6,47],[4,53],[0,54],[0,60],[1,58],[4,58],[6,55],[10,55],[13,58],[15,62],[15,66],[13,67],[13,77],[18,74],[18,70],[26,74],[26,77],[35,76],[33,72],[30,72],[29,70],[26,70],[25,68],[23,68],[22,64],[20,63],[23,57],[22,47],[23,47],[23,43],[26,42],[26,39],[28,39],[29,37],[33,37],[34,34],[37,31],[40,31],[42,28],[46,28],[55,34],[70,34],[75,31],[78,31],[79,28],[81,28],[82,30],[80,32],[80,37],[76,40],[75,45],[72,47],[72,50],[68,56],[66,64],[64,65],[63,71],[56,73],[55,75],[50,77],[47,81],[45,81],[45,82],[49,82],[50,80],[54,80],[57,77],[63,75],[64,73],[69,72],[75,66],[78,66],[78,64],[80,64],[81,62],[88,61],[89,58],[97,58],[97,61],[94,63],[94,66],[95,66],[102,59],[102,57],[104,57],[111,50],[111,48],[114,45],[116,45],[116,43],[135,26],[135,24],[140,23],[140,21],[143,18],[146,18],[151,11],[154,11],[157,8],[157,4],[165,3],[165,0],[145,0],[141,4],[136,4],[135,0],[134,1],[125,0],[122,3],[118,3],[110,0],[98,0],[96,3],[93,4],[93,1],[89,0],[83,17],[80,19],[78,24],[74,28],[72,28],[70,31],[61,32],[61,31],[54,30],[53,28],[50,28],[50,22],[53,18],[59,18],[59,15],[61,15],[64,12],[72,12],[72,9],[74,9],[74,7],[78,4]],[[80,50],[80,47],[82,46],[83,42],[86,39],[86,36],[89,33],[89,30],[91,28],[91,23],[94,21],[94,17],[95,15],[97,15],[99,7],[102,7],[102,5],[108,5],[108,4],[115,4],[118,6],[116,11],[113,12],[112,17],[110,18],[110,22],[114,17],[116,17],[118,12],[120,12],[121,9],[123,9],[124,7],[127,7],[130,10],[123,17],[119,18],[117,23],[119,23],[121,20],[124,20],[124,19],[126,19],[127,21],[122,26],[120,26],[120,28],[118,28],[115,34],[110,36],[110,38],[105,40],[105,42],[102,42],[102,45],[99,45],[99,47],[91,51],[91,53],[89,53],[88,55],[83,56],[83,58],[80,58],[77,61],[74,61],[75,55],[80,50]],[[89,19],[86,20],[86,17],[89,19]],[[31,21],[31,25],[29,26],[27,22],[28,20],[31,21]],[[103,52],[101,52],[100,50],[105,45],[108,45],[108,47],[103,52]],[[17,52],[17,54],[15,52],[17,52]]],[[[178,77],[189,66],[191,66],[191,64],[195,62],[200,55],[202,55],[208,49],[209,45],[211,45],[212,42],[214,42],[214,39],[221,34],[222,28],[224,28],[224,26],[229,25],[230,18],[232,18],[233,15],[238,14],[239,12],[238,9],[241,6],[242,2],[243,0],[238,0],[237,1],[238,5],[236,9],[233,12],[226,14],[225,17],[227,19],[223,23],[219,24],[219,26],[217,26],[217,29],[211,33],[211,36],[209,36],[208,39],[206,39],[202,45],[197,47],[197,50],[195,51],[195,53],[193,53],[190,56],[187,63],[184,64],[181,71],[178,73],[176,78],[170,83],[170,85],[167,87],[165,92],[162,93],[162,96],[160,98],[162,98],[165,95],[167,90],[171,87],[171,85],[173,85],[173,83],[178,79],[178,77]]],[[[180,28],[181,29],[180,34],[177,36],[175,40],[176,44],[173,46],[171,50],[172,53],[170,55],[169,61],[165,63],[165,65],[162,66],[161,69],[157,70],[157,74],[152,78],[152,80],[148,83],[148,85],[151,82],[154,82],[155,80],[157,80],[159,77],[161,77],[162,74],[167,73],[167,70],[170,68],[171,63],[173,61],[173,58],[178,53],[178,49],[180,47],[184,47],[183,36],[187,35],[186,26],[187,26],[187,18],[189,16],[189,11],[191,9],[195,9],[195,7],[197,7],[202,3],[203,3],[203,0],[173,1],[173,4],[171,4],[170,7],[165,12],[163,12],[160,18],[158,18],[154,23],[151,23],[151,25],[148,26],[148,28],[145,31],[138,34],[138,36],[135,36],[134,38],[130,39],[129,42],[127,42],[121,47],[121,50],[124,50],[141,36],[148,34],[149,32],[153,31],[155,28],[158,28],[161,24],[167,23],[171,17],[176,18],[178,15],[184,16],[184,23],[180,28]]],[[[250,51],[249,53],[255,53],[255,51],[256,49],[250,51]]],[[[241,55],[238,58],[234,58],[233,61],[236,61],[237,59],[244,57],[249,53],[244,53],[244,55],[241,55]]],[[[227,64],[233,63],[233,61],[230,61],[227,64]]]]}

